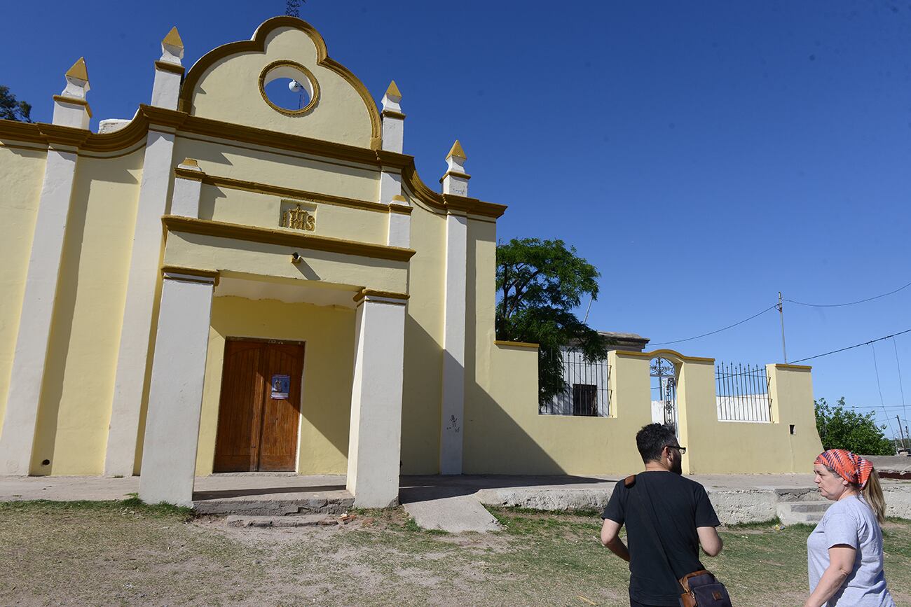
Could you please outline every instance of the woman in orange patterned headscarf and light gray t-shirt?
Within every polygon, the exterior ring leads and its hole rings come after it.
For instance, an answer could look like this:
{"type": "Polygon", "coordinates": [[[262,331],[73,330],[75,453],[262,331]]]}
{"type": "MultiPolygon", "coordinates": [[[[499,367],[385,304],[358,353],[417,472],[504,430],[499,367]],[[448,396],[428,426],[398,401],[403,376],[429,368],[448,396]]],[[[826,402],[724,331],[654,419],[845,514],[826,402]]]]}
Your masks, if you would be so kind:
{"type": "Polygon", "coordinates": [[[810,598],[804,607],[895,607],[885,587],[885,499],[873,464],[830,449],[816,458],[814,472],[819,492],[835,503],[806,541],[810,598]]]}

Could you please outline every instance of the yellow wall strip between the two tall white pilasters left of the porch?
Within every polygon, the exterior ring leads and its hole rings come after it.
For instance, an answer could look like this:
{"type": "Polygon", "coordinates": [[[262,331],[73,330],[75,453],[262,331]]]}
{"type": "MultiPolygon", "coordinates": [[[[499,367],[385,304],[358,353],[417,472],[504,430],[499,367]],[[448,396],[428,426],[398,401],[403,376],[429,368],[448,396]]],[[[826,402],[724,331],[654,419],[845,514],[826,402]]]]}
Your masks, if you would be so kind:
{"type": "Polygon", "coordinates": [[[33,474],[100,474],[104,468],[142,158],[142,149],[115,158],[79,157],[33,474]]]}

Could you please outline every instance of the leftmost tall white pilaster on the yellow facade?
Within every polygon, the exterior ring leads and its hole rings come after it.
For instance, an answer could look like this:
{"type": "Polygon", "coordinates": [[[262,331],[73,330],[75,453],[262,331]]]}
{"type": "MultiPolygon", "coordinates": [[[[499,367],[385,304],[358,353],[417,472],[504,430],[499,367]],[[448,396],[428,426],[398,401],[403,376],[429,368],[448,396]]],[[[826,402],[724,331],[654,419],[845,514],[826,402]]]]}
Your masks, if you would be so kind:
{"type": "Polygon", "coordinates": [[[0,475],[26,475],[29,472],[76,163],[75,151],[47,150],[6,413],[0,432],[0,475]]]}

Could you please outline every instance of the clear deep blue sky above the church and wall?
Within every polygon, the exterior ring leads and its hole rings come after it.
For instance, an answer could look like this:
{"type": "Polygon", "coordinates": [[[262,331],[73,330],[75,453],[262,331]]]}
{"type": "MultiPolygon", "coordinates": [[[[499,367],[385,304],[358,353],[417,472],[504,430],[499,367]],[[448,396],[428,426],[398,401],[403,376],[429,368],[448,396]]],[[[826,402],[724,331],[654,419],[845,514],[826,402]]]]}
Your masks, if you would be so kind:
{"type": "MultiPolygon", "coordinates": [[[[20,3],[0,21],[0,84],[49,121],[86,56],[94,128],[148,103],[172,25],[190,66],[283,12],[280,0],[41,15],[20,3]]],[[[779,290],[828,304],[911,282],[911,4],[309,0],[302,18],[377,99],[395,79],[426,183],[458,137],[471,194],[509,205],[499,238],[562,238],[599,268],[598,329],[665,342],[745,319],[779,290]]],[[[911,329],[909,309],[911,288],[844,308],[785,303],[788,357],[911,329]]],[[[781,346],[773,310],[672,348],[765,363],[781,346]]],[[[895,348],[911,405],[911,333],[895,348]]],[[[812,361],[816,396],[882,420],[881,389],[894,423],[892,340],[875,354],[879,386],[870,346],[812,361]]]]}

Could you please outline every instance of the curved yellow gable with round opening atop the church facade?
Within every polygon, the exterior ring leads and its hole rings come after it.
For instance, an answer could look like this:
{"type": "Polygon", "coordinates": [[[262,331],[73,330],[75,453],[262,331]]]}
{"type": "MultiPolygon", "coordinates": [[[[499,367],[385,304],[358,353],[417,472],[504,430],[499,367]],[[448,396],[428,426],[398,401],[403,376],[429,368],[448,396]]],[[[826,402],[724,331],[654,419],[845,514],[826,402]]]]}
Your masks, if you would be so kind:
{"type": "Polygon", "coordinates": [[[251,40],[219,46],[189,70],[180,109],[231,124],[312,137],[357,147],[379,148],[379,111],[366,86],[330,58],[312,25],[296,17],[274,17],[251,40]],[[261,92],[270,66],[297,64],[315,80],[317,95],[301,113],[277,110],[261,92]]]}

